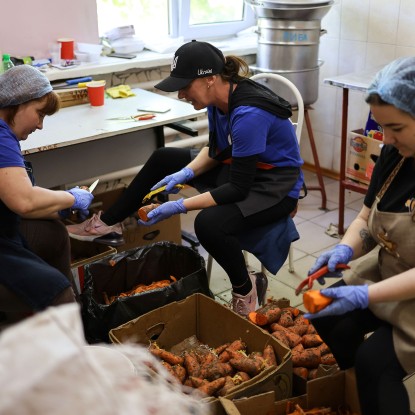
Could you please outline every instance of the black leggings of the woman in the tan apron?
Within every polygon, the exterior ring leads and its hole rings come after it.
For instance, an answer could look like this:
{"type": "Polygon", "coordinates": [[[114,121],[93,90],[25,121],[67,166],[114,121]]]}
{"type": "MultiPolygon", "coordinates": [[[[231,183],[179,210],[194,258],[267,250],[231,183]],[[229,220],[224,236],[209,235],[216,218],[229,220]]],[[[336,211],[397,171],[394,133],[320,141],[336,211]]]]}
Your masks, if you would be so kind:
{"type": "MultiPolygon", "coordinates": [[[[344,285],[339,281],[333,286],[344,285]]],[[[341,369],[355,367],[362,415],[408,415],[406,372],[395,353],[392,326],[369,309],[314,319],[341,369]],[[373,333],[372,333],[373,332],[373,333]],[[367,333],[372,333],[364,340],[367,333]]]]}

